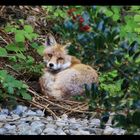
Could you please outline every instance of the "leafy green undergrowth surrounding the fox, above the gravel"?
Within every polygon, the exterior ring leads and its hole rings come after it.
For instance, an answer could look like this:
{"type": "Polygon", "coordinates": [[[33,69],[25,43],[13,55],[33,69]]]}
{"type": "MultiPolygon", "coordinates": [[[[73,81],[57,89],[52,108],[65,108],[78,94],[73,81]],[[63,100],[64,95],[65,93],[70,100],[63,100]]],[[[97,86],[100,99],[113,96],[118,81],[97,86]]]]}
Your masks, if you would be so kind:
{"type": "Polygon", "coordinates": [[[90,89],[85,85],[85,89],[89,109],[100,114],[101,126],[115,112],[115,127],[127,129],[128,134],[139,130],[139,6],[1,8],[1,102],[12,100],[13,105],[16,97],[32,99],[27,89],[37,87],[43,68],[42,44],[51,32],[59,43],[72,43],[69,54],[98,71],[99,86],[93,84],[90,89]]]}

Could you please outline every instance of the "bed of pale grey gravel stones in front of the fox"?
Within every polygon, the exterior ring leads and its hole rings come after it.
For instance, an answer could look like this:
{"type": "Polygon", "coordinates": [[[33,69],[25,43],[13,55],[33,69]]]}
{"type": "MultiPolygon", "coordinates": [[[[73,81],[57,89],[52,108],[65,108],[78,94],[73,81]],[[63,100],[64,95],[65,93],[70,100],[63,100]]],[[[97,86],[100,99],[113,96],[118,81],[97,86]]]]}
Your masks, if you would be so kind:
{"type": "MultiPolygon", "coordinates": [[[[110,124],[110,122],[108,122],[110,124]]],[[[106,125],[100,127],[97,118],[69,118],[63,114],[58,119],[45,116],[39,109],[18,105],[13,111],[1,109],[0,135],[125,135],[126,130],[106,125]]]]}

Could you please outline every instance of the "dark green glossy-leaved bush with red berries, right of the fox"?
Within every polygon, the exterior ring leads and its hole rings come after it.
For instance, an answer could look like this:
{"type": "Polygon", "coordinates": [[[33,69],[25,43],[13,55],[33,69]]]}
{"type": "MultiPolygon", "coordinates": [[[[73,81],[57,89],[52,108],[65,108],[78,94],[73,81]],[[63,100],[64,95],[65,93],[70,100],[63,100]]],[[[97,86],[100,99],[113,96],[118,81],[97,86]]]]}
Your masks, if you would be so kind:
{"type": "MultiPolygon", "coordinates": [[[[113,121],[119,121],[117,124],[128,130],[139,127],[140,121],[135,117],[139,116],[140,41],[139,30],[136,30],[139,19],[134,14],[134,11],[140,12],[139,8],[61,8],[67,13],[67,18],[58,21],[52,28],[53,31],[59,33],[63,40],[72,42],[69,47],[71,55],[97,68],[100,73],[98,90],[94,86],[90,92],[86,89],[91,94],[90,109],[100,108],[99,110],[104,110],[101,111],[102,115],[116,112],[118,115],[113,121]],[[122,11],[126,17],[121,17],[122,11]],[[129,12],[134,16],[128,15],[129,12]]],[[[53,16],[53,13],[50,14],[53,16]]]]}

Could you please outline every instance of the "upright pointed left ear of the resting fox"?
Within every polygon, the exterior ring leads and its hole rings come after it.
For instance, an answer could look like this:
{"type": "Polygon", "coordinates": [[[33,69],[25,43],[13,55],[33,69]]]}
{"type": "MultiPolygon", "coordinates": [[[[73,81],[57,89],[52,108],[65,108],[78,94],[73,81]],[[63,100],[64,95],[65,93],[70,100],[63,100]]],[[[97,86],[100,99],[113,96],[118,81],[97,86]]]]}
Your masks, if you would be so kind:
{"type": "Polygon", "coordinates": [[[46,36],[46,40],[45,40],[45,46],[46,47],[51,47],[51,46],[55,46],[57,44],[55,38],[52,36],[52,34],[47,34],[46,36]]]}

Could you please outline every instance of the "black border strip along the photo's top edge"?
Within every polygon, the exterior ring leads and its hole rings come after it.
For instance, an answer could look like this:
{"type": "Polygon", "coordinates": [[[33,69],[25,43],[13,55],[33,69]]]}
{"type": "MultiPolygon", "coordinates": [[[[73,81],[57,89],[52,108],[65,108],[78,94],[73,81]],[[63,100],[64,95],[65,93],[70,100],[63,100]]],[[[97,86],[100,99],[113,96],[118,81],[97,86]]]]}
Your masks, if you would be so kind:
{"type": "Polygon", "coordinates": [[[140,5],[140,0],[0,0],[0,5],[140,5]]]}

